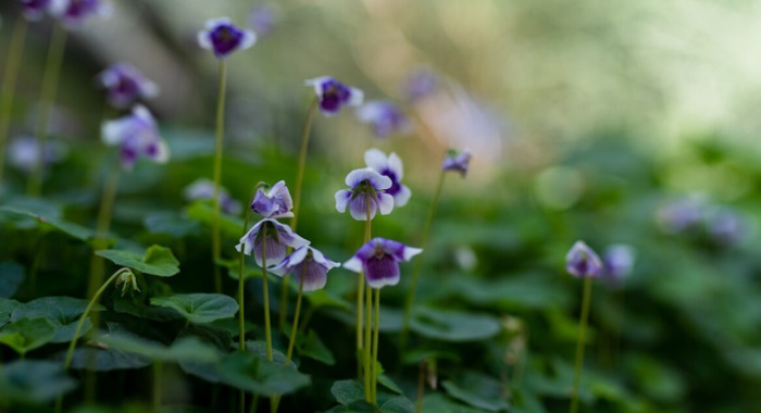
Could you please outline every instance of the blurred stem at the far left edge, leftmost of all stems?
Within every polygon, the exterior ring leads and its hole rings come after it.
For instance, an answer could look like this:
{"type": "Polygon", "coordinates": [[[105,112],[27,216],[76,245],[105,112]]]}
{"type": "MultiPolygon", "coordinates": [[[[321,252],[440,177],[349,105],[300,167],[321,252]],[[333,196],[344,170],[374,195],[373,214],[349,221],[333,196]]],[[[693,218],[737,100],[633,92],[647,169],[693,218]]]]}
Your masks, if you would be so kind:
{"type": "MultiPolygon", "coordinates": [[[[13,88],[16,85],[27,26],[28,22],[26,18],[17,18],[13,25],[11,46],[9,47],[8,61],[5,62],[5,73],[2,77],[2,95],[0,96],[0,186],[2,186],[2,173],[5,165],[5,146],[8,145],[8,127],[11,124],[11,109],[13,108],[13,88]]],[[[0,192],[1,196],[2,192],[0,192]]]]}

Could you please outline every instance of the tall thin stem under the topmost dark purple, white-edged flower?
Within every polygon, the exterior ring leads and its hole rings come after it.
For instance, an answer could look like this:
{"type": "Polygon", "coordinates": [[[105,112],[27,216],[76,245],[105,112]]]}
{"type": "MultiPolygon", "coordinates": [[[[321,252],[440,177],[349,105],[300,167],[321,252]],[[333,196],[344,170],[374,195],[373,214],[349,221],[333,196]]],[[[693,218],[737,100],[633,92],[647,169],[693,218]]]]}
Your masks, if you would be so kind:
{"type": "Polygon", "coordinates": [[[212,260],[214,265],[214,289],[217,293],[222,293],[222,274],[217,261],[220,260],[222,247],[220,241],[220,180],[222,179],[222,138],[225,133],[225,83],[227,66],[225,61],[220,59],[219,68],[219,85],[216,99],[216,138],[214,143],[214,197],[212,199],[214,211],[214,221],[211,228],[211,248],[212,260]]]}

